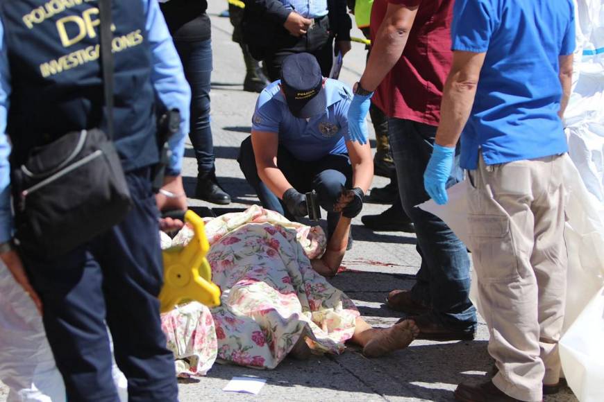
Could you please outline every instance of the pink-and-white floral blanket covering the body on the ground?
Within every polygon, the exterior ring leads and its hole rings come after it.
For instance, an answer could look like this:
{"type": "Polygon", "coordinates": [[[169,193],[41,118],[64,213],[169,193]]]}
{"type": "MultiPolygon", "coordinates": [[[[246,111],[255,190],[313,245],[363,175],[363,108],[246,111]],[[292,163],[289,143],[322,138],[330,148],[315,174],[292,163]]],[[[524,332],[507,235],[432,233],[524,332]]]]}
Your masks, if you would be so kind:
{"type": "MultiPolygon", "coordinates": [[[[205,231],[222,304],[209,310],[194,304],[190,311],[180,306],[162,316],[176,358],[194,356],[180,368],[177,362],[180,374],[203,374],[216,357],[273,369],[302,334],[314,353],[344,350],[359,313],[344,293],[312,270],[310,259],[319,258],[326,247],[320,227],[252,206],[210,220],[205,231]]],[[[183,229],[172,244],[191,236],[190,229],[183,229]]]]}

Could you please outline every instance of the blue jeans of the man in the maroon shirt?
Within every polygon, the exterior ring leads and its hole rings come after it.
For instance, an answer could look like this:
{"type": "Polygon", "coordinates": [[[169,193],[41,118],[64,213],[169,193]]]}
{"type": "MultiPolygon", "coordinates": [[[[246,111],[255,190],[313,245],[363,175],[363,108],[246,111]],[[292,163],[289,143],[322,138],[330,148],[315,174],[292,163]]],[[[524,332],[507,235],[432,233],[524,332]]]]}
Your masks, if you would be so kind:
{"type": "MultiPolygon", "coordinates": [[[[417,234],[421,266],[412,298],[432,308],[430,315],[446,326],[474,331],[476,309],[469,300],[470,260],[466,246],[432,213],[417,207],[430,199],[423,172],[432,155],[436,127],[404,119],[389,119],[388,134],[399,180],[401,202],[417,234]]],[[[447,187],[460,182],[459,152],[447,187]]]]}

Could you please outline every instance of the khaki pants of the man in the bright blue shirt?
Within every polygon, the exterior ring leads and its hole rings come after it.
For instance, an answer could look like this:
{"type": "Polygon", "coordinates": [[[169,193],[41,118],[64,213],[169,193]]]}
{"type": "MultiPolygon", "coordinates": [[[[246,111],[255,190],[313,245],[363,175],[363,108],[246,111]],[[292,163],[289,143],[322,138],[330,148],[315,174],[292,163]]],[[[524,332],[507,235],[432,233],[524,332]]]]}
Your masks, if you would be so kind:
{"type": "Polygon", "coordinates": [[[541,401],[542,383],[560,379],[557,342],[564,320],[562,157],[514,161],[469,171],[470,243],[493,383],[523,401],[541,401]]]}

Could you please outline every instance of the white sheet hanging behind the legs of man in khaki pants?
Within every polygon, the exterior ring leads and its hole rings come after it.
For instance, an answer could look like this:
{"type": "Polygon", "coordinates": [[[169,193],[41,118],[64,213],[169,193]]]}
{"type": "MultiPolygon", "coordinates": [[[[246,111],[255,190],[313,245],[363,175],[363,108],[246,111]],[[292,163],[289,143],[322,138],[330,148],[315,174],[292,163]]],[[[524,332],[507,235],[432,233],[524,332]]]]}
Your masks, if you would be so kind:
{"type": "MultiPolygon", "coordinates": [[[[560,341],[562,369],[581,402],[604,401],[604,204],[590,193],[576,166],[564,155],[564,183],[567,191],[567,307],[564,335],[560,341]],[[579,318],[578,318],[579,317],[579,318]]],[[[438,216],[455,234],[468,242],[467,201],[469,184],[464,181],[447,190],[449,201],[437,205],[433,200],[418,207],[438,216]]],[[[472,272],[470,299],[479,312],[476,272],[472,272]]]]}

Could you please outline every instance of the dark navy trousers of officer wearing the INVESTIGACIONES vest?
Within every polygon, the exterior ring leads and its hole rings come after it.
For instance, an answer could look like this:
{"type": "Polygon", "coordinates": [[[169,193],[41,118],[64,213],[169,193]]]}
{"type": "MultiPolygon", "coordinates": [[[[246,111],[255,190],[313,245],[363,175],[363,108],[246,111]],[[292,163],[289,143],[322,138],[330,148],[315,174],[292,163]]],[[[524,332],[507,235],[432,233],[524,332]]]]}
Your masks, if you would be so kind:
{"type": "Polygon", "coordinates": [[[163,264],[150,177],[149,168],[126,175],[133,208],[105,234],[53,261],[22,255],[69,401],[118,400],[106,324],[128,400],[177,401],[157,299],[163,264]]]}

